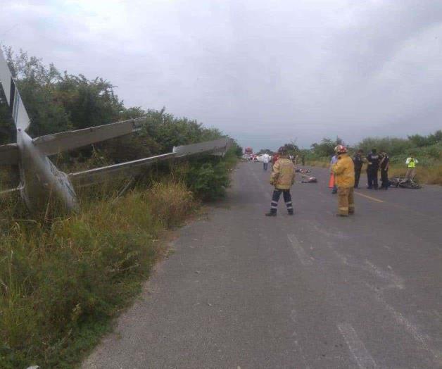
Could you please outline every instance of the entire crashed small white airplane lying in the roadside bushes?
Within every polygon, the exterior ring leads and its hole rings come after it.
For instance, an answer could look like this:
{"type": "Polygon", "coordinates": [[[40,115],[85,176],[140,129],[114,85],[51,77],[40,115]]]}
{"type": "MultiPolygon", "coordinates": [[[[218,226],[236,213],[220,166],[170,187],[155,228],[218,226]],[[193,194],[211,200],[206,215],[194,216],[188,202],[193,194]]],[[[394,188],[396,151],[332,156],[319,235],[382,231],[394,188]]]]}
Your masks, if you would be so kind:
{"type": "Polygon", "coordinates": [[[0,165],[18,165],[20,175],[18,187],[0,192],[0,194],[19,191],[30,211],[44,209],[51,196],[55,196],[68,210],[77,211],[79,209],[75,193],[77,186],[94,184],[116,174],[133,178],[146,166],[159,161],[201,154],[223,156],[232,145],[232,139],[222,138],[199,144],[177,146],[168,154],[66,174],[58,170],[48,156],[106,139],[129,135],[139,130],[139,123],[144,117],[32,138],[26,132],[31,123],[30,118],[1,51],[0,87],[3,88],[6,103],[17,130],[15,144],[0,146],[0,165]]]}

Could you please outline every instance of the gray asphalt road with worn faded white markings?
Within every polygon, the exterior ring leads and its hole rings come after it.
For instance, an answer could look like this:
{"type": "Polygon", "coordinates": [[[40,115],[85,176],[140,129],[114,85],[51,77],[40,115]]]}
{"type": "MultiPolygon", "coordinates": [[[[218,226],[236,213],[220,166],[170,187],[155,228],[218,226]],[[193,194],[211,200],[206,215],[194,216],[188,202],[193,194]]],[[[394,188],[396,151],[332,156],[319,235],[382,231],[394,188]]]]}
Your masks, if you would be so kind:
{"type": "Polygon", "coordinates": [[[312,174],[267,218],[241,163],[83,368],[442,368],[442,188],[359,189],[339,218],[312,174]]]}

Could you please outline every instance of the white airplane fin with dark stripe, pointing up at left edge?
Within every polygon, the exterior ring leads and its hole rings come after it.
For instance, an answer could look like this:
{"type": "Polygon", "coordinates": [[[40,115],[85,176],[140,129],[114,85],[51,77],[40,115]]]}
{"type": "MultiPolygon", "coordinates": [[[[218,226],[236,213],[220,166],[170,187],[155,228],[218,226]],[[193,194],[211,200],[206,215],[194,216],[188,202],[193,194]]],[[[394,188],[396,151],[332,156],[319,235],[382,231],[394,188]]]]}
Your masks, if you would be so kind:
{"type": "Polygon", "coordinates": [[[21,130],[26,130],[29,127],[30,119],[27,115],[25,106],[20,97],[15,82],[9,70],[8,63],[4,59],[3,54],[0,51],[0,85],[3,87],[3,91],[6,96],[6,102],[11,110],[12,118],[15,123],[15,127],[21,130]]]}

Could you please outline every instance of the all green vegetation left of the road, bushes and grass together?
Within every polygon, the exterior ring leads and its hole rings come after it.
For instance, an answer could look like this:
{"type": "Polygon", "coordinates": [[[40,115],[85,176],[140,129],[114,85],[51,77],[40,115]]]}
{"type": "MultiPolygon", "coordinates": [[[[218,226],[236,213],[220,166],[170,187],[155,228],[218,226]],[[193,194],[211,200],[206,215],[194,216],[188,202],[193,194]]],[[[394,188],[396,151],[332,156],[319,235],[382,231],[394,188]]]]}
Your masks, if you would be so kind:
{"type": "MultiPolygon", "coordinates": [[[[61,75],[53,65],[46,68],[23,52],[14,56],[11,49],[6,49],[6,58],[30,114],[32,135],[146,115],[138,135],[59,156],[56,163],[67,172],[222,137],[216,129],[175,118],[164,109],[125,108],[113,85],[99,77],[61,75]]],[[[11,123],[0,96],[1,141],[11,141],[11,123]]],[[[236,163],[232,152],[225,158],[179,163],[179,170],[173,163],[153,166],[139,178],[144,189],[118,201],[109,195],[118,186],[114,179],[109,188],[84,189],[82,213],[52,223],[23,220],[20,202],[2,200],[1,368],[74,366],[107,329],[109,319],[139,292],[160,254],[153,242],[160,230],[182,222],[195,207],[194,195],[213,200],[225,194],[229,169],[236,163]],[[153,178],[164,176],[167,182],[153,183],[153,178]],[[146,190],[146,184],[151,189],[146,190]]],[[[11,187],[10,181],[1,182],[11,187]]]]}

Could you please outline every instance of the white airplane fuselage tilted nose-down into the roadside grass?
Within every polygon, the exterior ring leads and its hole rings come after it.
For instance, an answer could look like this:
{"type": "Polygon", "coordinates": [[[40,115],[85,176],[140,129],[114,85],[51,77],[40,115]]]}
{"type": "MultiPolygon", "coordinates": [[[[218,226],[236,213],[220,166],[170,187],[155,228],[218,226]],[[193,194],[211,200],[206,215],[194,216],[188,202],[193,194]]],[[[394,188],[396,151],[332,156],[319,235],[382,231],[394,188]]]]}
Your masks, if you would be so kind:
{"type": "Polygon", "coordinates": [[[68,176],[58,170],[32,142],[24,130],[17,130],[20,149],[20,194],[28,208],[37,211],[56,198],[69,210],[77,210],[77,195],[68,176]]]}

